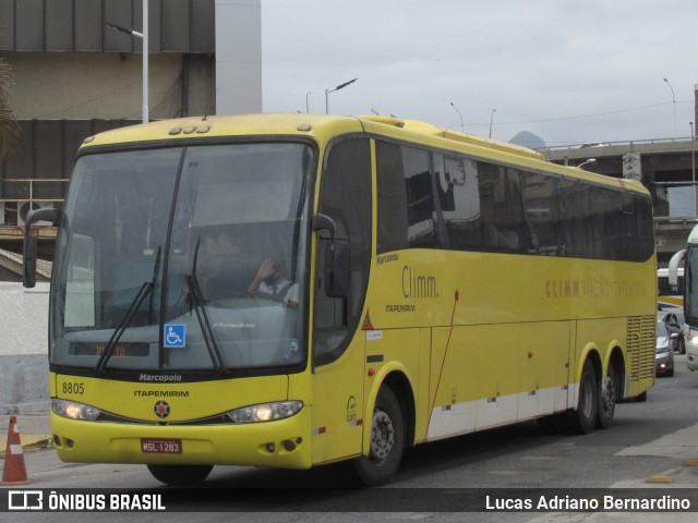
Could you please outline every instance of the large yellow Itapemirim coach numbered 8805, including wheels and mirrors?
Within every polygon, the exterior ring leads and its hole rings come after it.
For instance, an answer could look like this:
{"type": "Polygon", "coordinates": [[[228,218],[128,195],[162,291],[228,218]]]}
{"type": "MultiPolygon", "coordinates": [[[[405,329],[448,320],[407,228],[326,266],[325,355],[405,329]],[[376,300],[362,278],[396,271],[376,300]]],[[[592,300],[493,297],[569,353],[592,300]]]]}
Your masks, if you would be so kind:
{"type": "Polygon", "coordinates": [[[647,191],[530,149],[382,117],[152,122],[85,139],[38,219],[67,462],[178,484],[351,460],[381,485],[416,445],[589,433],[654,382],[647,191]]]}

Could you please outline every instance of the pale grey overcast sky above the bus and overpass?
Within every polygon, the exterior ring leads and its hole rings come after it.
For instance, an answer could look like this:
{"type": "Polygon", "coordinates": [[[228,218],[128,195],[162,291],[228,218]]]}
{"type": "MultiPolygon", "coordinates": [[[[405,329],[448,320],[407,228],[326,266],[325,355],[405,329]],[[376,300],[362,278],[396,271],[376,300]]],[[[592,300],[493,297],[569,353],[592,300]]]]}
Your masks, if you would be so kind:
{"type": "Polygon", "coordinates": [[[496,109],[493,138],[550,146],[688,138],[698,1],[262,0],[262,50],[265,112],[312,92],[323,113],[357,77],[329,112],[459,130],[460,111],[486,136],[496,109]]]}

